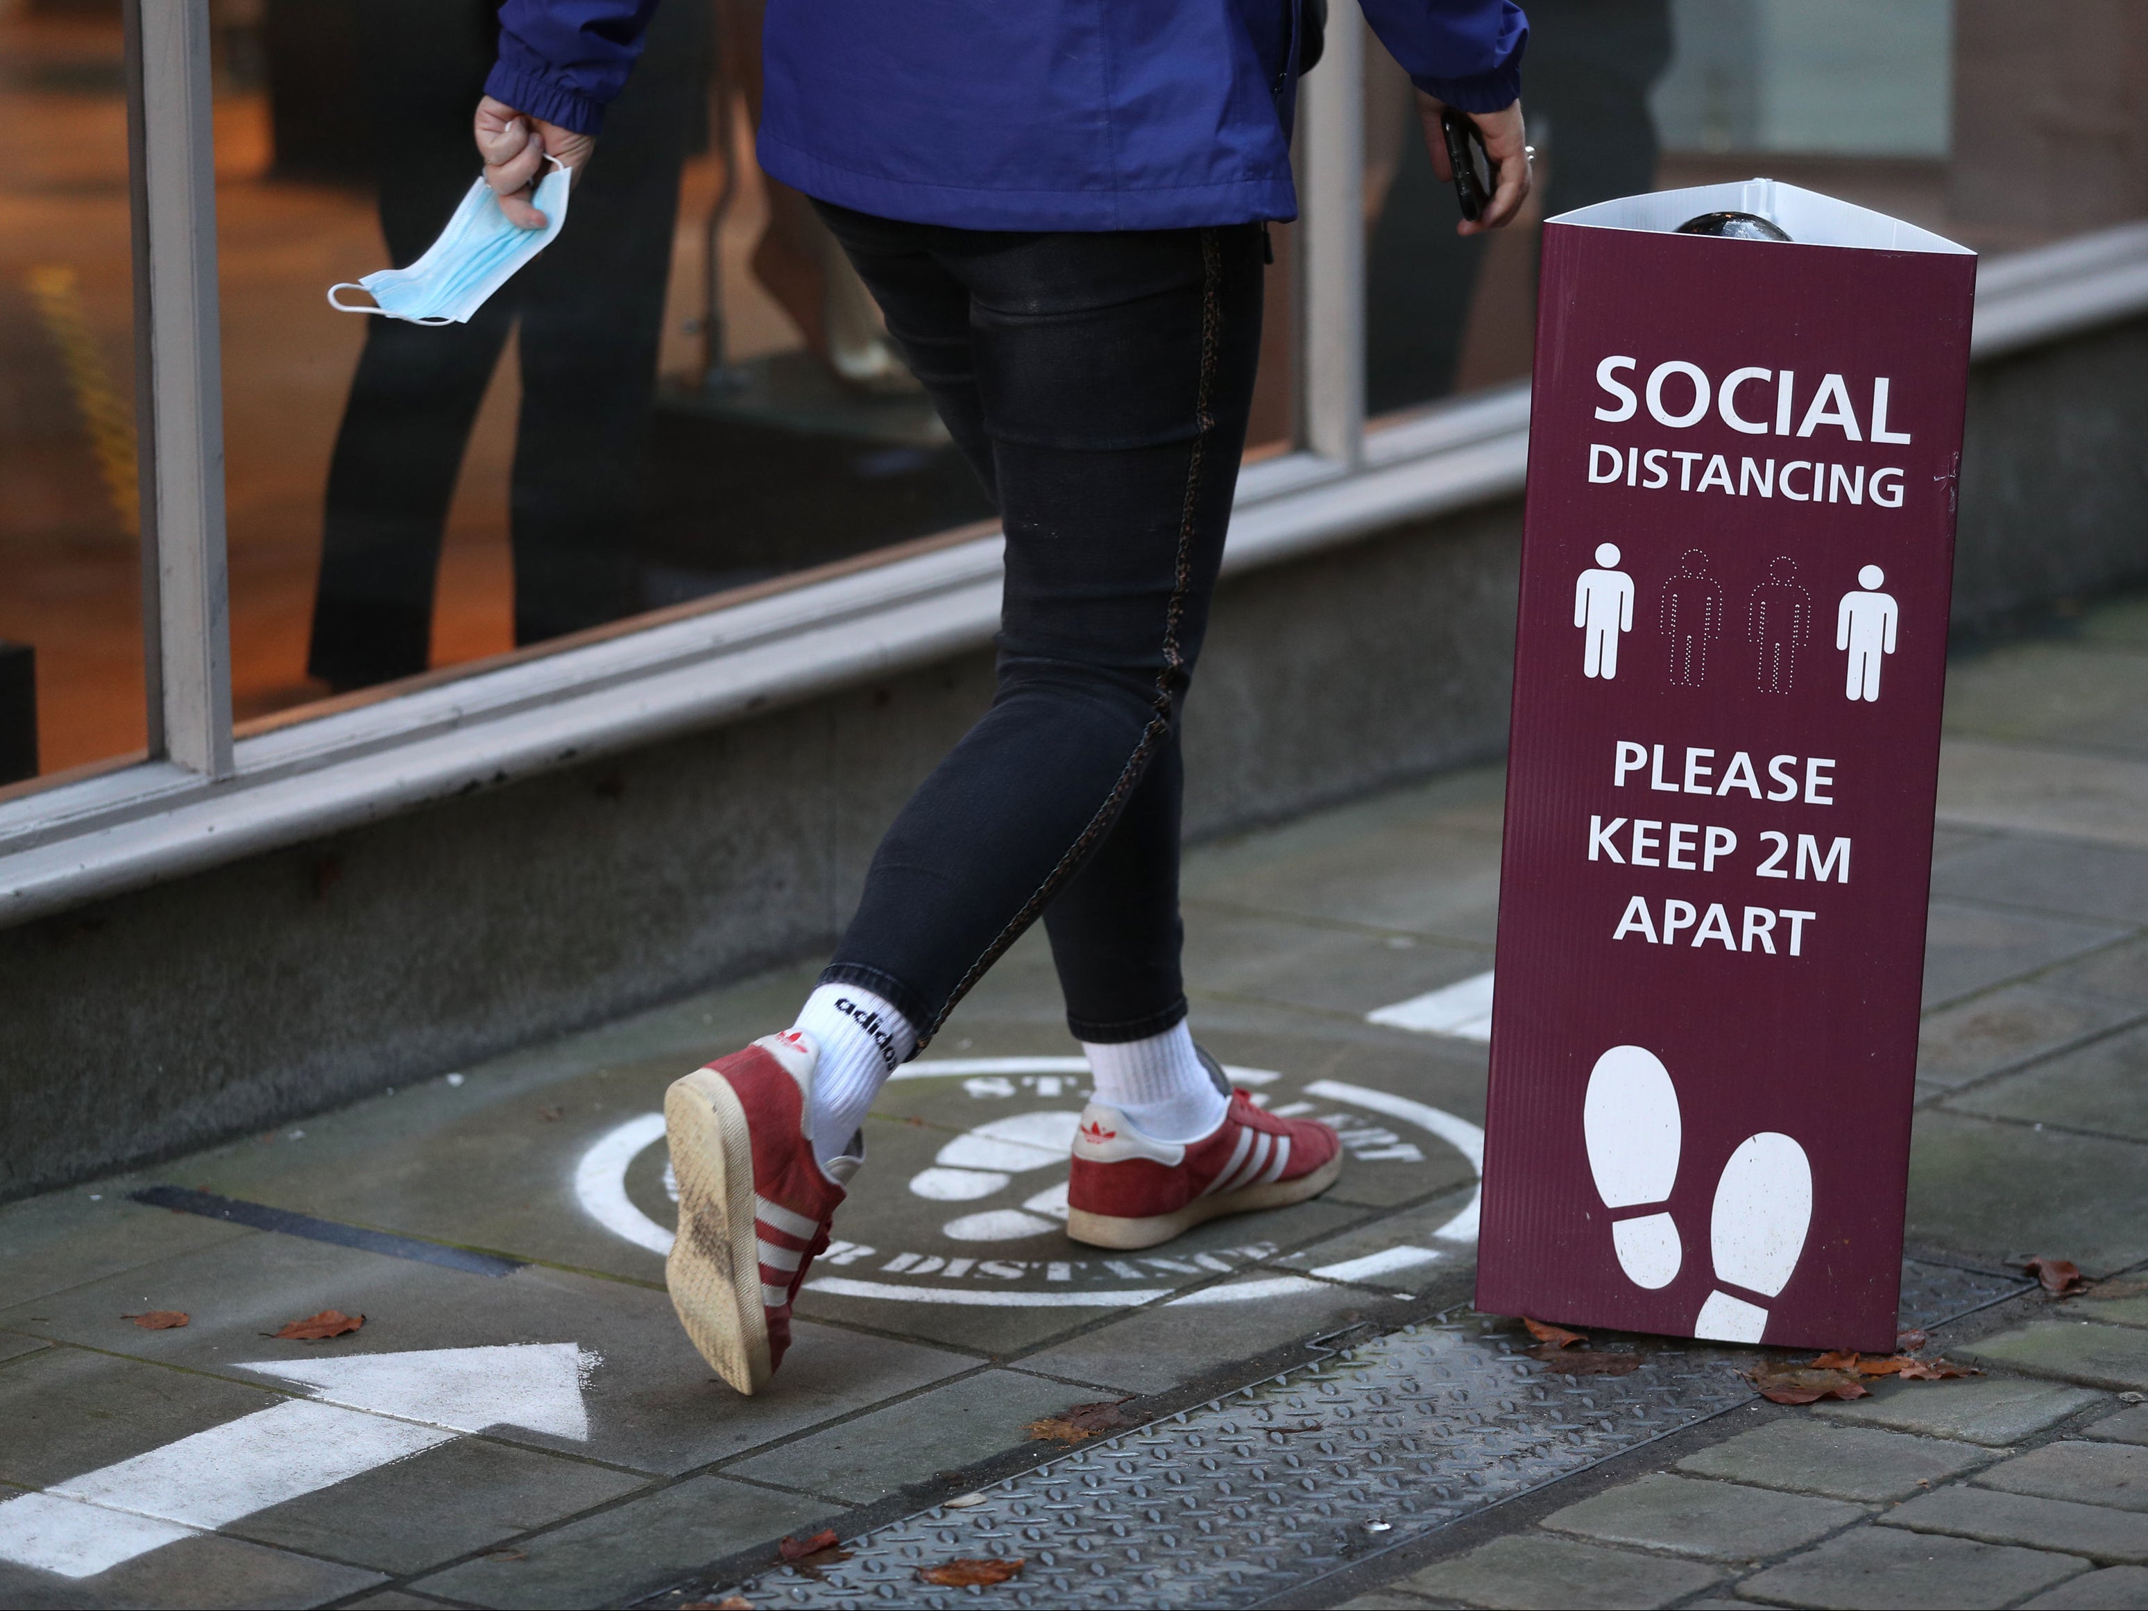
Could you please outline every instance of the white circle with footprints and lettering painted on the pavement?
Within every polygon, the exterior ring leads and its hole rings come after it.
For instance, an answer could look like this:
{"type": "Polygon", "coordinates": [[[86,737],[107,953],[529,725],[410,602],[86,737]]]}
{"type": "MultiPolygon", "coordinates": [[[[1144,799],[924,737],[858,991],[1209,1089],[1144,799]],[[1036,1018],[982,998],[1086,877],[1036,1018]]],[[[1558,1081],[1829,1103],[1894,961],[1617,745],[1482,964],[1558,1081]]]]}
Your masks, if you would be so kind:
{"type": "MultiPolygon", "coordinates": [[[[898,1080],[926,1080],[926,1078],[949,1078],[962,1076],[969,1095],[973,1098],[1012,1098],[1016,1095],[1014,1080],[1020,1078],[1022,1085],[1031,1087],[1031,1093],[1040,1100],[1078,1100],[1078,1093],[1065,1089],[1061,1080],[1065,1076],[1080,1078],[1089,1072],[1089,1061],[1083,1057],[937,1057],[915,1063],[906,1063],[896,1070],[898,1080]],[[1057,1078],[1055,1078],[1057,1076],[1057,1078]]],[[[1233,1068],[1224,1065],[1224,1074],[1244,1087],[1261,1087],[1280,1080],[1282,1076],[1265,1068],[1233,1068]]],[[[1072,1080],[1068,1080],[1072,1083],[1072,1080]]],[[[1448,1147],[1458,1151],[1469,1169],[1480,1177],[1478,1192],[1471,1192],[1469,1203],[1446,1224],[1433,1231],[1433,1239],[1452,1244],[1474,1244],[1478,1233],[1478,1199],[1482,1194],[1482,1173],[1484,1173],[1484,1132],[1443,1108],[1416,1102],[1405,1095],[1394,1095],[1390,1091],[1379,1091],[1364,1085],[1347,1085],[1342,1080],[1312,1080],[1304,1087],[1306,1095],[1325,1098],[1330,1102],[1342,1102],[1353,1108],[1364,1108],[1370,1113],[1381,1113],[1390,1119],[1400,1119],[1431,1136],[1437,1136],[1448,1147]]],[[[990,1119],[973,1130],[949,1141],[941,1147],[934,1162],[911,1177],[911,1192],[928,1201],[962,1203],[990,1196],[1005,1188],[1014,1175],[1027,1173],[1031,1169],[1044,1169],[1048,1164],[1065,1158],[1072,1145],[1074,1113],[1065,1111],[1029,1111],[1014,1113],[1001,1119],[990,1119]]],[[[1392,1134],[1381,1132],[1388,1143],[1394,1141],[1392,1134]]],[[[638,1248],[649,1248],[657,1257],[670,1254],[677,1233],[651,1220],[627,1194],[627,1169],[636,1158],[649,1147],[664,1141],[664,1115],[642,1113],[623,1123],[612,1126],[582,1153],[574,1171],[574,1196],[597,1224],[638,1248]]],[[[1390,1147],[1385,1156],[1409,1156],[1418,1158],[1418,1149],[1407,1143],[1400,1147],[1390,1147]]],[[[666,1169],[668,1179],[668,1169],[666,1169]]],[[[1031,1235],[1044,1235],[1065,1220],[1065,1181],[1050,1186],[1035,1196],[1029,1196],[1020,1209],[984,1209],[977,1214],[964,1214],[941,1227],[941,1233],[954,1242],[1018,1242],[1031,1235]]],[[[838,1250],[851,1244],[833,1244],[829,1248],[829,1263],[842,1263],[838,1250]]],[[[859,1248],[857,1254],[870,1254],[870,1248],[859,1248]]],[[[1405,1269],[1413,1265],[1424,1265],[1441,1254],[1431,1248],[1381,1248],[1358,1259],[1347,1259],[1342,1263],[1323,1265],[1312,1274],[1351,1280],[1373,1274],[1383,1274],[1392,1269],[1405,1269]]],[[[1214,1254],[1196,1254],[1205,1269],[1227,1272],[1229,1265],[1214,1254]]],[[[954,1274],[954,1265],[975,1265],[973,1259],[919,1259],[917,1254],[898,1254],[889,1269],[896,1274],[932,1274],[937,1267],[947,1267],[954,1274]]],[[[992,1263],[992,1261],[986,1261],[992,1263]]],[[[1113,1261],[1104,1261],[1113,1263],[1113,1261]]],[[[1151,1261],[1153,1263],[1153,1261],[1151,1261]]],[[[1164,1261],[1169,1263],[1169,1261],[1164,1261]]],[[[1065,1278],[1063,1265],[1050,1265],[1050,1278],[1065,1278]]],[[[997,1272],[995,1272],[997,1274],[997,1272]]],[[[1012,1272],[1020,1274],[1020,1272],[1012,1272]]],[[[1123,1276],[1141,1276],[1151,1272],[1138,1272],[1128,1267],[1119,1272],[1123,1276]]],[[[1153,1274],[1151,1274],[1153,1278],[1153,1274]]],[[[1280,1297],[1293,1291],[1312,1289],[1302,1276],[1272,1276],[1267,1280],[1248,1280],[1224,1287],[1207,1287],[1175,1302],[1184,1304],[1220,1304],[1220,1302],[1252,1302],[1261,1297],[1280,1297]]],[[[1014,1289],[971,1289],[971,1287],[906,1287],[881,1280],[857,1280],[851,1276],[821,1276],[808,1282],[810,1291],[825,1291],[836,1297],[881,1297],[898,1302],[924,1302],[924,1304],[971,1304],[988,1308],[1123,1308],[1130,1304],[1147,1304],[1156,1297],[1166,1297],[1169,1287],[1141,1289],[1141,1287],[1113,1287],[1098,1291],[1014,1291],[1014,1289]]]]}

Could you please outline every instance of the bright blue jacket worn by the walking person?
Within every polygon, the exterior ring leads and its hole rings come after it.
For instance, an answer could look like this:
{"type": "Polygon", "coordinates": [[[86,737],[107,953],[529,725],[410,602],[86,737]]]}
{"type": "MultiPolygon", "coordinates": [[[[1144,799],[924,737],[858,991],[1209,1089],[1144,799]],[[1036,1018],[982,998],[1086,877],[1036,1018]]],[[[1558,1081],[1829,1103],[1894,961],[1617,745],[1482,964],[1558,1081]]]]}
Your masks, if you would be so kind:
{"type": "MultiPolygon", "coordinates": [[[[1519,95],[1512,0],[1362,4],[1418,88],[1465,112],[1519,95]]],[[[595,133],[653,11],[505,0],[485,88],[595,133]]],[[[1297,217],[1295,26],[1295,0],[769,0],[760,168],[964,230],[1297,217]]]]}

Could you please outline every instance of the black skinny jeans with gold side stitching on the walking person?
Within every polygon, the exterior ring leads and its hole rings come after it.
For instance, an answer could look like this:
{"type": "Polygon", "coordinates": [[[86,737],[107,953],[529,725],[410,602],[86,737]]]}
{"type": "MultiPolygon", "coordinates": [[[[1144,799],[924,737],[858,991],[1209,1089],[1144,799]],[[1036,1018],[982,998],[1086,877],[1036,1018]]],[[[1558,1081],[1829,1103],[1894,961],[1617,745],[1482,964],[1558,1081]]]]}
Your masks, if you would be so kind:
{"type": "Polygon", "coordinates": [[[992,709],[896,816],[821,977],[887,997],[924,1042],[1042,915],[1080,1040],[1171,1029],[1179,711],[1246,445],[1261,226],[821,215],[1007,533],[992,709]]]}

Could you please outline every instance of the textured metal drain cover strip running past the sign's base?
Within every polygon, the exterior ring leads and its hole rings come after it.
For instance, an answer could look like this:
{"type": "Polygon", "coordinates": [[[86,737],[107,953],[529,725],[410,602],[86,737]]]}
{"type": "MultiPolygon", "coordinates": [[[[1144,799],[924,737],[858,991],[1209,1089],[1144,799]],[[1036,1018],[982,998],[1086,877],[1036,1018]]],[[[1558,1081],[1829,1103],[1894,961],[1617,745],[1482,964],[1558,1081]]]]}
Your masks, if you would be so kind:
{"type": "MultiPolygon", "coordinates": [[[[1903,1321],[1931,1325],[2023,1282],[1903,1263],[1903,1321]]],[[[1375,1338],[1136,1433],[1085,1446],[848,1544],[851,1559],[735,1592],[786,1607],[1235,1607],[1325,1577],[1499,1499],[1753,1398],[1751,1353],[1663,1342],[1624,1377],[1570,1377],[1512,1327],[1458,1312],[1375,1338]],[[941,1590],[919,1566],[1022,1557],[941,1590]]]]}

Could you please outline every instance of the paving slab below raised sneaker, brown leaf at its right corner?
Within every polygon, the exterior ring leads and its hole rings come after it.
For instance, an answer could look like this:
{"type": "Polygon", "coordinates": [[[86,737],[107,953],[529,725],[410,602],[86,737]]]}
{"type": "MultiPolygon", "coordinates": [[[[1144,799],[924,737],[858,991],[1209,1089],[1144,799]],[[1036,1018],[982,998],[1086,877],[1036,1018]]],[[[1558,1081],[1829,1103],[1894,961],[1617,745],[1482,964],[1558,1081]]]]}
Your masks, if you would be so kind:
{"type": "Polygon", "coordinates": [[[1029,1422],[1091,1398],[1091,1390],[1063,1381],[984,1370],[754,1454],[726,1471],[846,1504],[872,1504],[937,1471],[1022,1448],[1029,1422]]]}

